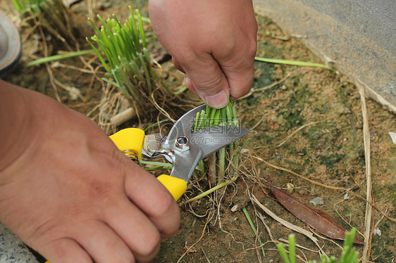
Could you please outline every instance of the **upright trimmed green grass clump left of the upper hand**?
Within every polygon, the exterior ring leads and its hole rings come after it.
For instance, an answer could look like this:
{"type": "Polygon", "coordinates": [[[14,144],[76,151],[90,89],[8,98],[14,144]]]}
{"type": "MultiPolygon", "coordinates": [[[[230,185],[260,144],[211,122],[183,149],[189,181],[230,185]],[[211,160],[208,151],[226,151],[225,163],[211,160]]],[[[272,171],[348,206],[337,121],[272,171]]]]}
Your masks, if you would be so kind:
{"type": "Polygon", "coordinates": [[[99,48],[88,38],[87,41],[108,73],[103,79],[117,86],[132,105],[140,108],[153,100],[153,89],[161,79],[151,65],[140,11],[136,10],[135,15],[130,6],[129,9],[131,16],[124,25],[116,15],[106,21],[98,15],[100,29],[89,19],[97,32],[91,39],[99,48]]]}

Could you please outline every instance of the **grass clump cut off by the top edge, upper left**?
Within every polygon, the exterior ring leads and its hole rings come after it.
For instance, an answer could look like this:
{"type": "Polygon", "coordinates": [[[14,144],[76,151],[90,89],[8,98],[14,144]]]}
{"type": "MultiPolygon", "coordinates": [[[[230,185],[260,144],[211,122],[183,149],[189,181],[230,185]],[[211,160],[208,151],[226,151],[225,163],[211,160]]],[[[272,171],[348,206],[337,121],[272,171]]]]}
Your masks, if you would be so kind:
{"type": "Polygon", "coordinates": [[[62,0],[12,0],[23,18],[39,23],[54,37],[73,39],[70,10],[62,0]]]}

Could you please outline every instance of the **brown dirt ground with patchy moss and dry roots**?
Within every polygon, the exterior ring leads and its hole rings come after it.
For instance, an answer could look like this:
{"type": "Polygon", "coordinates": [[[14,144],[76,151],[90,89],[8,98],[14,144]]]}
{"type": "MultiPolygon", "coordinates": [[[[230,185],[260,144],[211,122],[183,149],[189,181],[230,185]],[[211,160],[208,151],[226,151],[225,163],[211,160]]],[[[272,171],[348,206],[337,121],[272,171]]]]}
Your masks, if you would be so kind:
{"type": "MultiPolygon", "coordinates": [[[[140,8],[142,15],[147,16],[147,1],[85,0],[72,6],[78,42],[69,43],[71,49],[75,50],[77,46],[80,50],[90,49],[85,41],[85,37],[94,34],[86,20],[89,12],[100,13],[103,18],[116,13],[122,21],[129,15],[128,8],[125,8],[128,4],[140,8]],[[93,8],[92,3],[96,3],[97,8],[93,8]]],[[[98,105],[103,99],[106,84],[100,79],[104,76],[104,69],[99,67],[97,60],[91,60],[94,55],[28,67],[27,63],[43,54],[55,55],[68,51],[68,47],[51,37],[46,37],[44,45],[39,34],[18,20],[11,0],[1,1],[0,7],[16,20],[23,39],[20,65],[5,80],[58,98],[101,124],[107,132],[113,132],[115,127],[106,126],[99,119],[98,105]],[[79,90],[76,98],[73,98],[70,87],[79,90]]],[[[258,56],[323,63],[298,39],[282,32],[268,18],[257,15],[257,20],[258,56]]],[[[147,32],[150,32],[148,25],[147,32]]],[[[153,52],[161,51],[155,39],[150,46],[153,52]]],[[[167,83],[180,86],[181,73],[172,67],[169,60],[162,66],[167,83]]],[[[276,242],[295,232],[269,217],[252,202],[251,196],[255,195],[261,204],[282,219],[310,229],[285,210],[266,188],[267,175],[275,186],[286,188],[288,183],[289,186],[292,184],[288,190],[295,198],[327,212],[346,229],[355,227],[359,233],[364,232],[366,202],[359,196],[366,196],[366,165],[359,90],[336,71],[259,62],[255,66],[252,90],[256,91],[235,103],[241,126],[254,130],[241,154],[240,177],[214,194],[185,203],[187,198],[200,193],[199,189],[209,189],[206,178],[194,177],[187,196],[180,200],[180,230],[161,242],[161,251],[152,262],[282,262],[276,242]],[[261,89],[264,87],[266,89],[261,89]],[[333,190],[332,187],[343,190],[333,190]],[[345,198],[346,193],[349,198],[345,198]],[[310,203],[314,198],[321,198],[323,204],[314,206],[310,203]],[[265,257],[242,212],[244,207],[264,243],[265,257]],[[264,216],[270,232],[256,217],[259,213],[264,216]]],[[[190,91],[177,97],[169,96],[169,100],[170,108],[175,108],[172,117],[199,105],[199,99],[190,91]]],[[[389,131],[396,132],[396,116],[374,101],[368,99],[366,103],[373,198],[378,207],[373,210],[372,225],[380,231],[372,235],[370,261],[395,262],[396,224],[387,217],[396,218],[396,145],[388,134],[389,131]],[[380,211],[387,217],[383,217],[380,211]]],[[[144,119],[142,125],[148,127],[161,118],[166,116],[144,119]]],[[[138,125],[137,120],[131,120],[122,127],[138,125]]],[[[361,234],[357,237],[364,240],[361,234]]],[[[318,248],[309,238],[298,233],[296,238],[297,244],[305,248],[297,249],[302,261],[319,259],[318,248]]],[[[316,238],[327,255],[340,256],[341,240],[329,240],[321,234],[316,238]]],[[[361,255],[363,246],[355,245],[355,248],[361,255]]]]}

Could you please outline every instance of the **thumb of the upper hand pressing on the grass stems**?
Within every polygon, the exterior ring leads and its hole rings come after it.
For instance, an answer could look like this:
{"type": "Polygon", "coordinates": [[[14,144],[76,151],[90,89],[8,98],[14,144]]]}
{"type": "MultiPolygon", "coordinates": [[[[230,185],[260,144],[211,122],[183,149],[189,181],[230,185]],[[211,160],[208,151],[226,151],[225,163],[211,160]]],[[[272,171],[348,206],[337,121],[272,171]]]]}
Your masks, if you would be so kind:
{"type": "Polygon", "coordinates": [[[208,55],[198,62],[178,64],[185,70],[185,84],[212,108],[223,108],[230,97],[230,85],[224,72],[213,56],[208,55]]]}

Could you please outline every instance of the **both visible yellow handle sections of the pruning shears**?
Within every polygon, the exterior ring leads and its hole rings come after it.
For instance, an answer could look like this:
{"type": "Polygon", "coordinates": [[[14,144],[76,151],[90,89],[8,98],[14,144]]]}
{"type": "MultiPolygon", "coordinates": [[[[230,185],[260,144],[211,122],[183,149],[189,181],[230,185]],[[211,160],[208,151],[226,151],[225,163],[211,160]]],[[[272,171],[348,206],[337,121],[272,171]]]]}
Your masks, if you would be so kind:
{"type": "MultiPolygon", "coordinates": [[[[125,153],[132,151],[137,155],[139,160],[142,158],[142,146],[144,142],[144,131],[142,129],[122,129],[111,135],[110,139],[116,144],[119,150],[125,153]]],[[[162,174],[158,177],[158,180],[168,189],[176,201],[187,189],[187,182],[183,179],[162,174]]]]}

